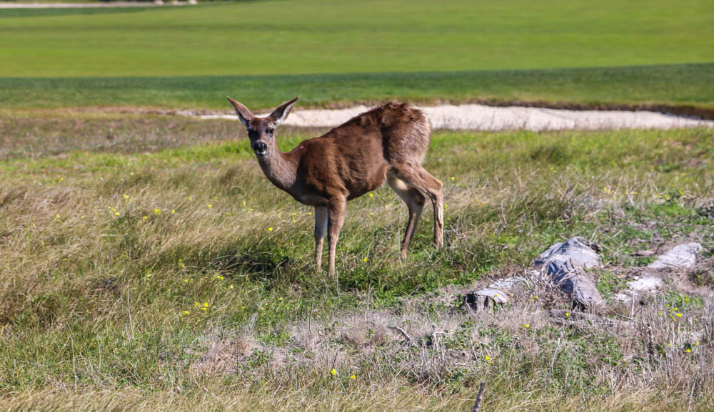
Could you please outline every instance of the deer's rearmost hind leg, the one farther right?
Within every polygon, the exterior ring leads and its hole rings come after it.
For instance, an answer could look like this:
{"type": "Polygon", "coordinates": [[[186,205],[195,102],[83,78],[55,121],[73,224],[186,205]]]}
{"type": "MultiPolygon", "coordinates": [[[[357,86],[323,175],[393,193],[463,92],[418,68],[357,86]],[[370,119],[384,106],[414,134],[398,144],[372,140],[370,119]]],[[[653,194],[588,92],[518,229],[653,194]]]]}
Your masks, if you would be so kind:
{"type": "Polygon", "coordinates": [[[434,244],[436,247],[443,247],[444,244],[444,205],[443,205],[443,183],[431,173],[427,172],[421,165],[399,164],[392,165],[393,174],[407,185],[423,191],[431,200],[434,207],[434,244]]]}

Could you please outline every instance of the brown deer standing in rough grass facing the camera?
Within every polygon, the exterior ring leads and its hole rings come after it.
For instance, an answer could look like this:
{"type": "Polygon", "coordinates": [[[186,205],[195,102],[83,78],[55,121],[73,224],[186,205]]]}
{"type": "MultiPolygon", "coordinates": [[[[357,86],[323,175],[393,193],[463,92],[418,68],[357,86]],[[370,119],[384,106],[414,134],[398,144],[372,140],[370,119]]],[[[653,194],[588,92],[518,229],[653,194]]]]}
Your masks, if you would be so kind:
{"type": "Polygon", "coordinates": [[[381,105],[282,153],[276,144],[275,128],[288,117],[297,100],[293,98],[259,118],[228,98],[248,128],[251,148],[268,180],[298,202],[315,207],[317,272],[327,232],[328,272],[335,277],[335,250],[347,201],[381,187],[385,180],[409,208],[401,257],[406,257],[424,206],[422,192],[434,207],[434,243],[443,247],[443,183],[421,167],[431,139],[429,121],[421,110],[406,104],[381,105]]]}

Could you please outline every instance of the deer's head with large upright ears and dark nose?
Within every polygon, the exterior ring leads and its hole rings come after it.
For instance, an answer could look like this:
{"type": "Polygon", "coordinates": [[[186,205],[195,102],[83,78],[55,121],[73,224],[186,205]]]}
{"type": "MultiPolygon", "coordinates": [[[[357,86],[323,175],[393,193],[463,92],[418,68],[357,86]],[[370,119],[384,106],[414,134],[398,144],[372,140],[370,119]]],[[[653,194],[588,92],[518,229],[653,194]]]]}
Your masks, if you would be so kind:
{"type": "Polygon", "coordinates": [[[290,109],[293,108],[298,98],[293,98],[293,100],[286,101],[279,105],[273,110],[273,113],[264,118],[253,115],[251,110],[248,110],[246,106],[234,101],[232,98],[228,98],[228,101],[231,102],[233,108],[236,109],[238,118],[241,119],[243,125],[246,125],[246,128],[248,128],[248,138],[251,139],[251,148],[258,158],[267,156],[269,153],[275,153],[278,148],[275,143],[275,128],[288,117],[290,109]]]}

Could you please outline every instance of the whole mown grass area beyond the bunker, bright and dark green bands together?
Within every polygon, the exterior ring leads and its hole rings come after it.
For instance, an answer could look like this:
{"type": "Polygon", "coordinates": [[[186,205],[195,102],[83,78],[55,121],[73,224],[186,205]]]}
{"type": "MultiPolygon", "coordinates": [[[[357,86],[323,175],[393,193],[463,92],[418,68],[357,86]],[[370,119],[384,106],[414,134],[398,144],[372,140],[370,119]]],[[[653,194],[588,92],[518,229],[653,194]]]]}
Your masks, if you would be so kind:
{"type": "Polygon", "coordinates": [[[696,0],[0,11],[0,107],[221,109],[226,94],[268,107],[300,94],[711,111],[712,16],[696,0]]]}

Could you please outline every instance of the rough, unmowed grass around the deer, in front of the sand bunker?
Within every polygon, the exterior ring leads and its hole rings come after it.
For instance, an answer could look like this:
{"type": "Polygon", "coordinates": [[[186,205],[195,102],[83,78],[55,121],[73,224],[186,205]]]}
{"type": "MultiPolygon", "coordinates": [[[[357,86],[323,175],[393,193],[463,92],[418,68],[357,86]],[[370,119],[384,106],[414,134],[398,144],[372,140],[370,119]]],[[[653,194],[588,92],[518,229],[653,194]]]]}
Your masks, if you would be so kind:
{"type": "MultiPolygon", "coordinates": [[[[445,182],[446,249],[426,210],[400,262],[406,207],[383,187],[348,205],[338,287],[314,274],[311,208],[268,183],[236,122],[102,122],[4,118],[7,406],[454,410],[482,380],[498,409],[713,400],[705,294],[668,289],[619,329],[554,323],[546,309],[568,301],[544,285],[493,312],[456,307],[456,291],[573,235],[608,267],[646,264],[630,252],[661,242],[709,256],[712,130],[436,132],[425,164],[445,182]],[[658,315],[672,305],[682,321],[658,315]]],[[[601,276],[610,296],[621,282],[601,276]]]]}

